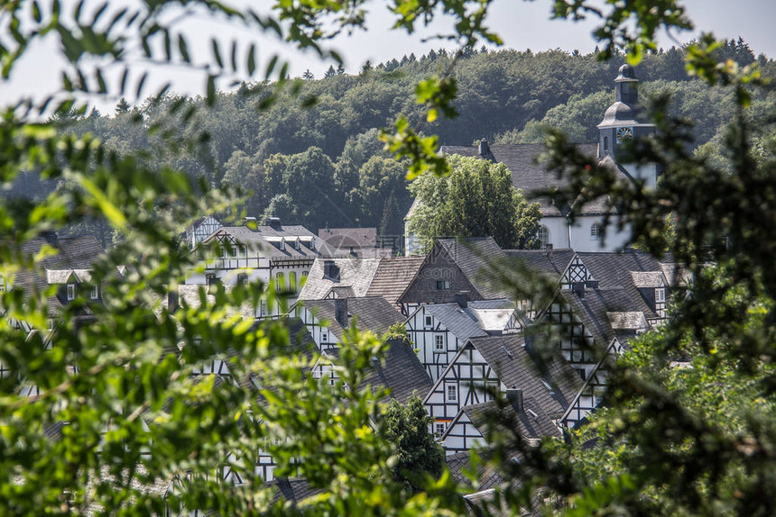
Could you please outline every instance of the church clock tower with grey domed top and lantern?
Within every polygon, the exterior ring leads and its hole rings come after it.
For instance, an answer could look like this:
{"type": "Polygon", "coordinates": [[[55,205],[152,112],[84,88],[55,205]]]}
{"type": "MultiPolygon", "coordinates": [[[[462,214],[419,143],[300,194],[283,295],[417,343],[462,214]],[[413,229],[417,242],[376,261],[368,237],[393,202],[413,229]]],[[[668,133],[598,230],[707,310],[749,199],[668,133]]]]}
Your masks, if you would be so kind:
{"type": "Polygon", "coordinates": [[[620,147],[624,141],[641,138],[655,132],[655,126],[641,121],[639,79],[630,65],[620,67],[614,79],[614,104],[598,124],[598,159],[609,157],[620,162],[620,147]]]}

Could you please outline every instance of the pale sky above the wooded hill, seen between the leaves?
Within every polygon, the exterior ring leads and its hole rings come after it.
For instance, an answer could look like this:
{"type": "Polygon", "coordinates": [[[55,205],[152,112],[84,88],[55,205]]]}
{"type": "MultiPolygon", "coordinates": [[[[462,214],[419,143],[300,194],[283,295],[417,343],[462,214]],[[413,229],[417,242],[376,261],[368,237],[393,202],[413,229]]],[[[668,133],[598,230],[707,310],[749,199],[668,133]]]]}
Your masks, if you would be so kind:
{"type": "MultiPolygon", "coordinates": [[[[133,0],[120,0],[131,2],[133,0]]],[[[249,0],[232,0],[233,3],[243,3],[249,0]]],[[[75,5],[74,0],[64,0],[63,11],[68,12],[75,5]]],[[[89,13],[97,8],[100,2],[87,0],[84,12],[89,13]]],[[[259,10],[266,10],[273,4],[271,0],[254,0],[250,2],[259,10]]],[[[430,29],[420,34],[407,35],[404,32],[390,31],[391,18],[387,13],[385,2],[373,0],[367,5],[368,32],[356,32],[351,36],[340,36],[331,42],[345,59],[347,72],[356,73],[367,59],[374,64],[393,58],[401,59],[404,54],[414,52],[416,56],[427,53],[430,49],[445,47],[453,49],[449,41],[431,40],[423,42],[423,37],[429,37],[439,32],[445,32],[449,23],[440,20],[430,29]]],[[[573,23],[564,20],[550,20],[550,0],[494,0],[490,12],[488,26],[497,32],[504,41],[503,48],[534,52],[560,48],[563,50],[580,50],[587,53],[596,46],[591,32],[596,26],[595,21],[573,23]]],[[[680,32],[661,35],[661,45],[668,48],[672,44],[680,44],[696,37],[701,31],[714,32],[717,37],[727,39],[743,36],[755,54],[764,53],[768,57],[776,57],[776,31],[773,23],[776,21],[776,0],[684,0],[689,18],[695,23],[695,32],[680,32]]],[[[289,52],[282,42],[268,39],[263,35],[255,35],[246,31],[236,31],[234,25],[210,20],[209,22],[192,21],[186,24],[189,34],[189,47],[192,56],[210,56],[209,41],[216,36],[224,44],[223,53],[228,59],[226,41],[238,38],[257,43],[258,70],[265,68],[270,57],[277,52],[291,60],[291,76],[299,77],[309,69],[316,77],[332,62],[322,62],[310,52],[301,54],[289,52]]],[[[7,38],[7,36],[5,36],[7,38]]],[[[4,39],[5,39],[4,38],[4,39]]],[[[0,105],[14,104],[24,95],[44,98],[59,86],[62,63],[57,58],[57,43],[55,41],[40,41],[32,45],[28,55],[14,68],[12,80],[0,84],[0,105]]],[[[244,59],[243,59],[244,61],[244,59]]],[[[108,83],[118,81],[118,72],[107,74],[108,83]]],[[[245,78],[245,77],[238,77],[245,78]]],[[[206,76],[201,72],[192,72],[186,68],[162,68],[153,73],[148,81],[148,89],[143,96],[151,95],[156,88],[166,80],[172,80],[172,90],[185,95],[201,95],[205,90],[206,76]]],[[[226,89],[228,84],[218,85],[226,89]]],[[[129,95],[128,95],[129,96],[129,95]]],[[[90,99],[101,109],[110,113],[117,99],[90,99]]]]}

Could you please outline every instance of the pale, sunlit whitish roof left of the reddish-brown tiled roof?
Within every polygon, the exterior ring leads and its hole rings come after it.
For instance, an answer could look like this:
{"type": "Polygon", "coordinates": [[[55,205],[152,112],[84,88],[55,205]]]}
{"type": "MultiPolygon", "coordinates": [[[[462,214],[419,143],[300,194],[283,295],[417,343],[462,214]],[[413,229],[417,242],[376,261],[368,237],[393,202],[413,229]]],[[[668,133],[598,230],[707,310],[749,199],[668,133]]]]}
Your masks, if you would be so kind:
{"type": "Polygon", "coordinates": [[[315,259],[309,268],[307,280],[301,288],[299,300],[321,300],[332,288],[350,287],[352,295],[365,296],[372,283],[374,272],[380,265],[380,259],[315,259]],[[324,275],[325,263],[333,261],[339,269],[339,279],[324,275]]]}

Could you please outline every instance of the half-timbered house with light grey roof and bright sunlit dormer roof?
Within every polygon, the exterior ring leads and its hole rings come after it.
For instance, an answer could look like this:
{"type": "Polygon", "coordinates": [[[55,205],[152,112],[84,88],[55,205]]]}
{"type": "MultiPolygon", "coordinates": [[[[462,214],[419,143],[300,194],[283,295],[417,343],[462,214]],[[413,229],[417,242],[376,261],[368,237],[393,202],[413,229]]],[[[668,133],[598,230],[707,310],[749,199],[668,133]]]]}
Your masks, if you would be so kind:
{"type": "Polygon", "coordinates": [[[460,293],[457,303],[420,305],[404,325],[420,362],[436,381],[467,340],[521,331],[525,320],[509,300],[469,302],[467,294],[460,293]]]}

